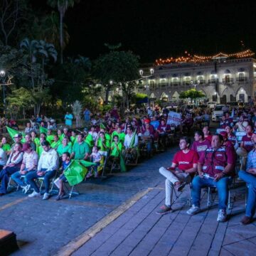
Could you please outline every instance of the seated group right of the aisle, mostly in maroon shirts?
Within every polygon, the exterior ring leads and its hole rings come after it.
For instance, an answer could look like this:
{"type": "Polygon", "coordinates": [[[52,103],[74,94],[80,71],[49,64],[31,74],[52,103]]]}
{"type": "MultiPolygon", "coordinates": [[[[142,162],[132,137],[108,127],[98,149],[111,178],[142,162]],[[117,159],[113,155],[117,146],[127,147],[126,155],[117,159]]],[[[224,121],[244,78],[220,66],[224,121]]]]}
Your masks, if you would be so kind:
{"type": "Polygon", "coordinates": [[[255,121],[254,109],[241,112],[237,123],[227,112],[220,122],[218,133],[210,135],[208,127],[203,127],[203,131],[195,132],[193,144],[188,137],[181,137],[181,150],[174,155],[171,166],[159,169],[160,174],[166,178],[166,201],[157,213],[171,211],[174,189],[181,191],[190,183],[192,206],[187,210],[188,215],[201,211],[201,188],[217,188],[217,220],[224,222],[227,220],[229,186],[239,176],[246,182],[248,190],[245,216],[241,223],[251,223],[256,207],[256,129],[252,128],[256,126],[255,121]],[[242,138],[237,138],[236,132],[242,138]],[[240,160],[238,173],[235,171],[237,159],[240,160]]]}

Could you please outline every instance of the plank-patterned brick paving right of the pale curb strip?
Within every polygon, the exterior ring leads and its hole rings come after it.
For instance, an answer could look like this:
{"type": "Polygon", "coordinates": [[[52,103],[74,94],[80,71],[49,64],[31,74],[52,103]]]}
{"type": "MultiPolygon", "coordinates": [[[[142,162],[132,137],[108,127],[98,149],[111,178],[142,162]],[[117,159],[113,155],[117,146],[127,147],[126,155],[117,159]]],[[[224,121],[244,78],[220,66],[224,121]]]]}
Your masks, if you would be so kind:
{"type": "Polygon", "coordinates": [[[186,214],[188,186],[174,204],[174,211],[157,215],[164,203],[164,183],[141,198],[119,218],[91,238],[74,256],[85,255],[255,255],[256,222],[240,225],[245,209],[245,186],[238,182],[232,190],[233,208],[226,223],[216,221],[216,203],[202,212],[186,214]],[[234,201],[235,199],[235,201],[234,201]]]}

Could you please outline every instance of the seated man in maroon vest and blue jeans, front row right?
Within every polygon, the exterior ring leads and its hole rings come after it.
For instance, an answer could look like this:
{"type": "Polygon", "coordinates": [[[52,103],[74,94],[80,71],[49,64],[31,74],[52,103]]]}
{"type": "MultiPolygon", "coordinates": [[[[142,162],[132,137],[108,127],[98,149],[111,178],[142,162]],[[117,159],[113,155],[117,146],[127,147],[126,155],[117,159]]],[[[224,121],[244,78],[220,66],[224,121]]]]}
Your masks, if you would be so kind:
{"type": "Polygon", "coordinates": [[[218,218],[224,222],[227,219],[228,184],[235,172],[235,151],[222,146],[223,137],[213,135],[212,146],[206,149],[198,161],[198,176],[192,182],[193,206],[187,211],[188,215],[200,212],[201,188],[215,186],[218,189],[218,218]]]}

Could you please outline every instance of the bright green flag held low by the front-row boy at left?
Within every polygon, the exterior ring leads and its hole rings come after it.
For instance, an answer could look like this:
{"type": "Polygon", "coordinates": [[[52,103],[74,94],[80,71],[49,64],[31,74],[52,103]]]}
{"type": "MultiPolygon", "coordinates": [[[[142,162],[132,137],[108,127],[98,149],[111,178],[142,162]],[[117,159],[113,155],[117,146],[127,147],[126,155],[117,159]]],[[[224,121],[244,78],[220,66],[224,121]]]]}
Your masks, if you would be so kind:
{"type": "MultiPolygon", "coordinates": [[[[83,162],[81,163],[79,160],[71,160],[70,165],[65,169],[64,174],[70,186],[80,183],[85,178],[88,171],[87,166],[89,166],[89,164],[85,164],[83,162]]],[[[91,163],[91,165],[92,164],[93,163],[91,163]]]]}

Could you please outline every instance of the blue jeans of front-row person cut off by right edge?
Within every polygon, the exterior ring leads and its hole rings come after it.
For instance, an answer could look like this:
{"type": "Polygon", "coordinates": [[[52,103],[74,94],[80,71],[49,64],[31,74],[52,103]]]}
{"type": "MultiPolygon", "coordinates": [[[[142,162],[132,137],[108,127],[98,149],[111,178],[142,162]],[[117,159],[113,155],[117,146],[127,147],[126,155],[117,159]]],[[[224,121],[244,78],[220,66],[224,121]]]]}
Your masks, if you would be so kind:
{"type": "Polygon", "coordinates": [[[256,207],[256,176],[246,171],[239,171],[238,176],[247,183],[248,198],[245,209],[245,216],[252,218],[255,215],[256,207]]]}

